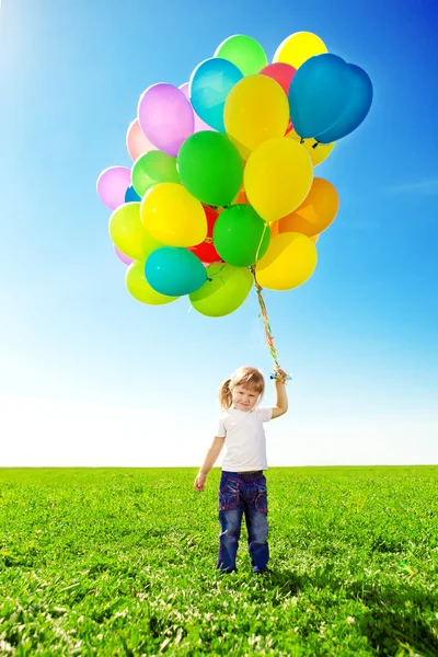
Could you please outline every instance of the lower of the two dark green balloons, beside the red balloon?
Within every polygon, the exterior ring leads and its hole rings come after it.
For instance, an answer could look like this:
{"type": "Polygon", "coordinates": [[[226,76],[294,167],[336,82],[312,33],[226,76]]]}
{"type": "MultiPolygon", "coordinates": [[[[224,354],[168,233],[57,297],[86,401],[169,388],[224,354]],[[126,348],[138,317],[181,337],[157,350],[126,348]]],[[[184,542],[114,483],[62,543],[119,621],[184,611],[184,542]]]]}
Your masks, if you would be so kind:
{"type": "Polygon", "coordinates": [[[250,205],[223,210],[216,220],[212,241],[220,257],[235,267],[249,267],[269,246],[270,229],[250,205]]]}

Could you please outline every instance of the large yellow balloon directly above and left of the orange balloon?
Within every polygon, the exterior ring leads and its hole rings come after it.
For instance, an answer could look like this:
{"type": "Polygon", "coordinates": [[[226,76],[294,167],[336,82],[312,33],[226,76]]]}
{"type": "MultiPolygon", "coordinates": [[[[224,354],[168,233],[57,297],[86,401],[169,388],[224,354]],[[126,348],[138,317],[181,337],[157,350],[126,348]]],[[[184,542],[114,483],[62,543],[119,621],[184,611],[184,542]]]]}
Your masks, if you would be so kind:
{"type": "Polygon", "coordinates": [[[292,139],[277,137],[253,151],[244,171],[245,193],[256,212],[275,221],[292,212],[309,194],[313,166],[292,139]]]}

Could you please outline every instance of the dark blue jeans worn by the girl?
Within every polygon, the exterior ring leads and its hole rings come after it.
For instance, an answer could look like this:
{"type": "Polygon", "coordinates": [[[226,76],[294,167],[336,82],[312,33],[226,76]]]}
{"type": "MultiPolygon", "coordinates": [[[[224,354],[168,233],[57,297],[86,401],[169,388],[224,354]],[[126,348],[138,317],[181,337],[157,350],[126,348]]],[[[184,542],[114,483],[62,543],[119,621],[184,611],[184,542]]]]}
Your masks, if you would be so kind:
{"type": "Polygon", "coordinates": [[[247,551],[254,573],[267,569],[267,491],[263,472],[256,474],[223,472],[219,485],[219,556],[221,573],[235,570],[242,516],[245,515],[247,551]]]}

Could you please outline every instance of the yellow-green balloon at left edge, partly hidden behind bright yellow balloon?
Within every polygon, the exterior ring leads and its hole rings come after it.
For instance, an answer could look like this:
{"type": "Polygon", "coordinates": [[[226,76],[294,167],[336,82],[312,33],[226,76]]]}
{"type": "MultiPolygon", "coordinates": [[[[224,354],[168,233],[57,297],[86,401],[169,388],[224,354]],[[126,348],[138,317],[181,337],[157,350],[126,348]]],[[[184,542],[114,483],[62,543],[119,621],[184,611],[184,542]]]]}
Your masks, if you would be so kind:
{"type": "Polygon", "coordinates": [[[145,260],[162,244],[154,240],[140,221],[140,204],[127,203],[110,217],[110,235],[114,244],[125,255],[134,260],[145,260]]]}

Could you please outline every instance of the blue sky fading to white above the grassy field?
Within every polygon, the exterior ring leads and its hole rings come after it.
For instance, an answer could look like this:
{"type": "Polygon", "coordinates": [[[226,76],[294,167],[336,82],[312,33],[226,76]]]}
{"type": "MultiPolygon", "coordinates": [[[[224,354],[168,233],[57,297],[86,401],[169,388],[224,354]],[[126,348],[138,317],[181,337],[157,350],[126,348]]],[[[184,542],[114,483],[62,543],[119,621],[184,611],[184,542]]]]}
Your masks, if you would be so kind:
{"type": "Polygon", "coordinates": [[[315,170],[341,210],[314,275],[266,293],[293,377],[269,463],[437,463],[435,3],[198,4],[2,1],[0,464],[196,465],[220,381],[242,364],[268,377],[254,292],[219,320],[130,297],[95,181],[130,165],[148,85],[187,81],[232,34],[270,59],[301,30],[365,68],[374,103],[315,170]]]}

